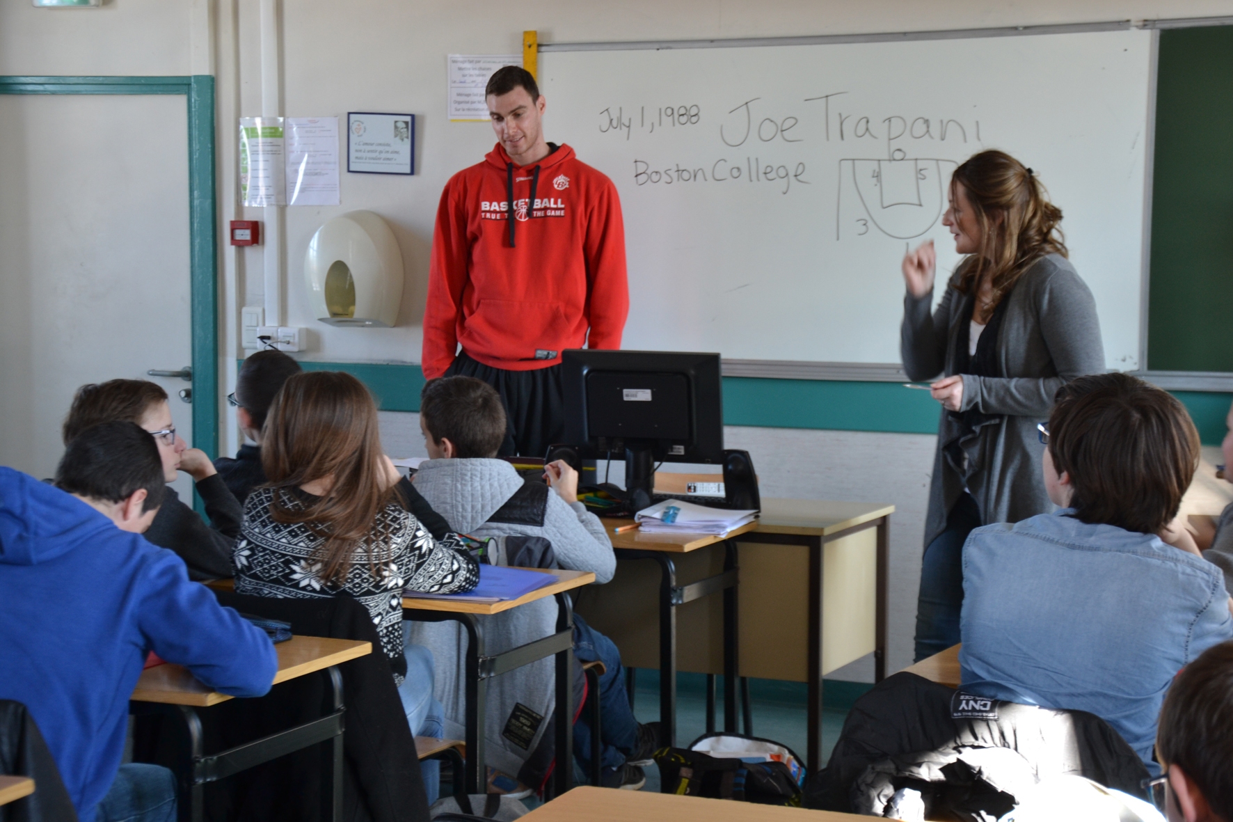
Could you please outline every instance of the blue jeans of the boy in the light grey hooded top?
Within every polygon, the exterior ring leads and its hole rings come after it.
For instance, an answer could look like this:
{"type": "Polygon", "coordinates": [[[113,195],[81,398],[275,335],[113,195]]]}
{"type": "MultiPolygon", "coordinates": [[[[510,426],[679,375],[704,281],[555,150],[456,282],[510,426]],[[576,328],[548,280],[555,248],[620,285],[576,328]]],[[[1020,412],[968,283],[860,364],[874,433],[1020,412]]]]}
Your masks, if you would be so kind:
{"type": "MultiPolygon", "coordinates": [[[[613,641],[593,629],[586,621],[573,615],[573,654],[578,662],[604,664],[599,678],[599,711],[603,717],[599,738],[603,748],[599,762],[604,768],[620,768],[626,754],[637,744],[637,720],[629,707],[625,691],[625,671],[620,664],[620,650],[613,641]]],[[[573,758],[587,773],[591,769],[591,717],[582,711],[573,723],[573,758]]]]}

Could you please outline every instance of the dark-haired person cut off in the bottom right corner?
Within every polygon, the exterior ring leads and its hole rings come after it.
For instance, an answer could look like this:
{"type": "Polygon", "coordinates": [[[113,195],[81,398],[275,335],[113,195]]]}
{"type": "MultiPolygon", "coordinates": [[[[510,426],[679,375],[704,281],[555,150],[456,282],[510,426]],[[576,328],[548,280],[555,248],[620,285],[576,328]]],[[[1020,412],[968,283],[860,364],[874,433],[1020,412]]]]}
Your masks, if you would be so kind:
{"type": "Polygon", "coordinates": [[[1163,781],[1153,801],[1170,822],[1233,822],[1233,642],[1186,665],[1157,731],[1163,781]]]}

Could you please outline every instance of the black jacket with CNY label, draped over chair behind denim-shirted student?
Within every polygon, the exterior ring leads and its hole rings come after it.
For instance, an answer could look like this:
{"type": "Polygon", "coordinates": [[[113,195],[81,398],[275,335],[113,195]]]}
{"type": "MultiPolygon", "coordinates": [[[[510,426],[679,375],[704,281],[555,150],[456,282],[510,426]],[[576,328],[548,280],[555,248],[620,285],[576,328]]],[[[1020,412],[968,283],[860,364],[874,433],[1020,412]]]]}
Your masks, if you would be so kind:
{"type": "Polygon", "coordinates": [[[1016,787],[1062,775],[1145,799],[1147,769],[1100,717],[973,697],[899,673],[852,706],[830,763],[805,785],[805,807],[882,816],[896,790],[911,787],[926,815],[996,820],[1017,803],[1016,787]]]}

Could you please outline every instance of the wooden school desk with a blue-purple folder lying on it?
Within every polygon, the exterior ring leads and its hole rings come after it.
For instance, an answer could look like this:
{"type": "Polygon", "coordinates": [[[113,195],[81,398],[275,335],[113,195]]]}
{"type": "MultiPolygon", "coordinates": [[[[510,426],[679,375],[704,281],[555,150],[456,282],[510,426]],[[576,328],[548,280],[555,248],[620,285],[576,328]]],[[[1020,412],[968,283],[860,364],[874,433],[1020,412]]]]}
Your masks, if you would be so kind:
{"type": "MultiPolygon", "coordinates": [[[[402,600],[404,620],[418,622],[453,621],[462,623],[467,632],[466,655],[466,792],[482,794],[487,779],[485,774],[485,728],[488,701],[488,680],[523,665],[556,657],[556,755],[560,762],[573,762],[573,605],[568,591],[596,581],[591,571],[549,570],[525,568],[556,576],[557,581],[536,589],[508,602],[466,602],[445,599],[402,600]],[[549,596],[556,599],[556,633],[541,637],[524,646],[488,655],[483,643],[483,631],[478,617],[501,613],[528,602],[549,596]]],[[[572,768],[555,768],[552,790],[560,796],[573,786],[572,768]]]]}

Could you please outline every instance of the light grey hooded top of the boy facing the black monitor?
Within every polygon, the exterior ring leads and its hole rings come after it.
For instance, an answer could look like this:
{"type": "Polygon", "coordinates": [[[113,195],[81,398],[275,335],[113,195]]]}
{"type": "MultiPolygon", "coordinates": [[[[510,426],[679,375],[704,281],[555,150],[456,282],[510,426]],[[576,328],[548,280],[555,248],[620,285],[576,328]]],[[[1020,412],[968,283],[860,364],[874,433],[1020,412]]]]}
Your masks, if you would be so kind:
{"type": "MultiPolygon", "coordinates": [[[[514,467],[501,459],[432,459],[419,465],[414,475],[418,490],[450,527],[472,537],[529,536],[552,543],[561,568],[594,571],[597,583],[607,583],[616,570],[612,541],[599,518],[581,502],[568,504],[555,491],[547,495],[544,525],[496,523],[488,517],[497,512],[523,486],[514,467]]],[[[547,597],[520,607],[480,617],[486,653],[501,653],[545,637],[556,631],[556,600],[547,597]]],[[[445,706],[445,736],[464,739],[466,721],[466,684],[462,679],[466,659],[466,631],[457,622],[411,622],[408,642],[433,652],[436,663],[434,692],[445,706]]],[[[524,665],[488,680],[487,742],[488,765],[517,775],[523,762],[535,750],[547,726],[546,718],[556,705],[552,658],[524,665]],[[515,706],[525,728],[529,708],[534,736],[504,733],[515,706]],[[543,717],[535,722],[534,717],[543,717]],[[523,743],[526,743],[525,745],[523,743]]]]}

